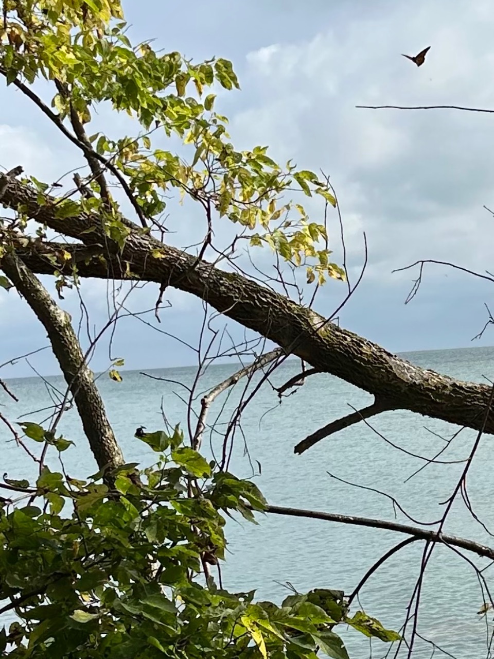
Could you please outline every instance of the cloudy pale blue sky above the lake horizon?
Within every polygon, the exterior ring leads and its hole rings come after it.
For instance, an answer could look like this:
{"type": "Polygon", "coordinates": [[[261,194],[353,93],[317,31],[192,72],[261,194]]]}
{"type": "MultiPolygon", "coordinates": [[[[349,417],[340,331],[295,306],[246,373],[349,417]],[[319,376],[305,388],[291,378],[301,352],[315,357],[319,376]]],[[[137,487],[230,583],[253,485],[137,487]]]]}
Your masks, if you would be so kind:
{"type": "MultiPolygon", "coordinates": [[[[241,90],[219,94],[215,109],[229,117],[236,148],[269,145],[279,161],[291,158],[298,167],[331,176],[352,281],[362,267],[364,231],[368,241],[368,267],[340,314],[342,326],[392,352],[494,343],[490,328],[472,342],[487,320],[493,283],[430,264],[418,295],[404,304],[418,270],[393,272],[420,259],[480,273],[494,268],[494,215],[483,208],[494,208],[494,115],[356,107],[494,109],[492,3],[456,0],[453,9],[451,0],[190,0],[185,10],[163,0],[128,0],[123,6],[132,42],[153,38],[155,49],[178,50],[195,61],[212,56],[233,61],[241,90]],[[431,49],[420,68],[401,57],[427,45],[431,49]]],[[[76,148],[22,94],[2,86],[0,104],[1,167],[22,164],[28,175],[52,181],[82,164],[76,148]]],[[[105,107],[95,123],[94,132],[101,127],[115,138],[130,126],[105,107]]],[[[321,212],[321,206],[310,207],[316,221],[321,212]]],[[[178,227],[173,244],[193,243],[204,233],[194,211],[173,206],[171,214],[171,225],[178,227]]],[[[336,259],[341,256],[336,212],[328,221],[336,259]]],[[[224,221],[217,225],[219,234],[230,230],[224,221]]],[[[256,252],[256,259],[270,267],[269,254],[256,252]]],[[[53,282],[43,283],[53,292],[53,282]]],[[[82,295],[97,330],[108,318],[107,285],[88,280],[82,295]]],[[[331,315],[343,295],[344,286],[330,281],[316,310],[331,315]]],[[[152,308],[156,297],[157,287],[150,285],[133,291],[128,305],[152,308]]],[[[152,314],[142,316],[159,331],[124,318],[112,337],[111,355],[107,333],[92,368],[106,368],[109,357],[124,357],[126,368],[137,369],[194,364],[194,352],[169,335],[196,345],[201,303],[179,291],[169,290],[166,297],[171,306],[161,313],[161,324],[152,314]]],[[[78,304],[74,291],[61,301],[74,318],[78,304]]],[[[225,325],[216,322],[218,328],[225,325]]],[[[229,328],[242,337],[242,328],[229,328]]],[[[14,290],[0,291],[0,333],[0,364],[47,345],[43,328],[14,290]]],[[[57,372],[45,349],[5,366],[1,376],[31,376],[33,367],[57,372]]]]}

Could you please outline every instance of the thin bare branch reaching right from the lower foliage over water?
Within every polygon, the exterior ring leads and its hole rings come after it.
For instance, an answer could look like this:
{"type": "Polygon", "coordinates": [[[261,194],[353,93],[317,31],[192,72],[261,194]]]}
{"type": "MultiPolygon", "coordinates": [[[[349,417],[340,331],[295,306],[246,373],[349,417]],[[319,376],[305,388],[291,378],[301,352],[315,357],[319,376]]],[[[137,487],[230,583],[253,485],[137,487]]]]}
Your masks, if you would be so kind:
{"type": "Polygon", "coordinates": [[[279,505],[268,505],[265,507],[264,512],[272,513],[273,515],[288,515],[288,517],[323,519],[328,522],[338,522],[340,524],[352,524],[359,527],[385,529],[396,531],[397,533],[406,533],[407,535],[414,536],[414,538],[417,538],[418,540],[427,540],[428,542],[439,542],[453,547],[461,547],[462,549],[466,549],[468,552],[473,552],[478,556],[494,559],[494,548],[488,547],[485,544],[480,544],[480,542],[474,542],[474,540],[468,540],[466,538],[458,538],[458,536],[442,532],[438,533],[435,530],[412,527],[408,524],[400,524],[398,522],[390,522],[383,519],[371,519],[370,517],[352,517],[350,515],[337,515],[336,513],[322,513],[317,510],[286,508],[279,505]]]}

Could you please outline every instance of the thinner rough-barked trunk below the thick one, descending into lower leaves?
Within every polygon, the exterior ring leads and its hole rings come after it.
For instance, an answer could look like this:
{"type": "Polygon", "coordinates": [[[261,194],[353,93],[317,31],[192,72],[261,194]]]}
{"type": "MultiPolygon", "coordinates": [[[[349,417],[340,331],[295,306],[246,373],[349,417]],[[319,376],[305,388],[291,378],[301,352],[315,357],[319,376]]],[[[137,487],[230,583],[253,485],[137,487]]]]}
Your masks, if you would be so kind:
{"type": "Polygon", "coordinates": [[[115,440],[103,401],[92,372],[84,360],[69,315],[57,306],[38,278],[15,254],[4,256],[0,260],[0,267],[47,331],[53,353],[74,396],[84,432],[99,469],[115,469],[122,465],[122,451],[115,440]]]}

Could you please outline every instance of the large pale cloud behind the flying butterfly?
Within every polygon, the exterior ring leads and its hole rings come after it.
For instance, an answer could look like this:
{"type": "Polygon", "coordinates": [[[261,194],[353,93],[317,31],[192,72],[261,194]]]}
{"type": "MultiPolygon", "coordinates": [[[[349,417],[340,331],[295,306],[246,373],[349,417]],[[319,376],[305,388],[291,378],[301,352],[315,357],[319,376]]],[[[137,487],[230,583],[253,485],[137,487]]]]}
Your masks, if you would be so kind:
{"type": "Polygon", "coordinates": [[[260,132],[275,156],[290,148],[298,165],[331,173],[350,252],[362,229],[368,235],[368,276],[390,279],[418,258],[487,266],[494,223],[482,205],[491,198],[494,156],[485,134],[492,117],[354,106],[493,104],[485,81],[494,47],[478,28],[494,8],[460,3],[452,13],[445,2],[418,2],[385,3],[379,15],[362,18],[350,12],[343,28],[246,55],[252,101],[234,115],[234,129],[251,139],[260,132]],[[419,69],[400,57],[429,44],[419,69]]]}

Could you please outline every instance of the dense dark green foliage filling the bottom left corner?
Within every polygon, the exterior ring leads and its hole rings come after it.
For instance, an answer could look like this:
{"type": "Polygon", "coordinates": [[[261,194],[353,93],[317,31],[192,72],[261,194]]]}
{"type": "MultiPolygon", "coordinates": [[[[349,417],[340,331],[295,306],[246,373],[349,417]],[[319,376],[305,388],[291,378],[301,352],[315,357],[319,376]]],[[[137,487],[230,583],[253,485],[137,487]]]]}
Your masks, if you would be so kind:
{"type": "MultiPolygon", "coordinates": [[[[36,424],[24,430],[46,437],[36,424]]],[[[123,465],[110,488],[101,473],[83,481],[48,467],[34,486],[7,480],[28,502],[0,510],[0,600],[11,602],[0,612],[18,616],[0,633],[4,656],[295,659],[321,648],[343,659],[339,624],[399,638],[363,612],[350,617],[339,590],[276,606],[255,602],[254,591],[227,592],[211,576],[200,583],[202,564],[225,558],[220,511],[254,519],[265,500],[252,482],[184,446],[178,427],[139,439],[157,463],[140,473],[123,465]]]]}

